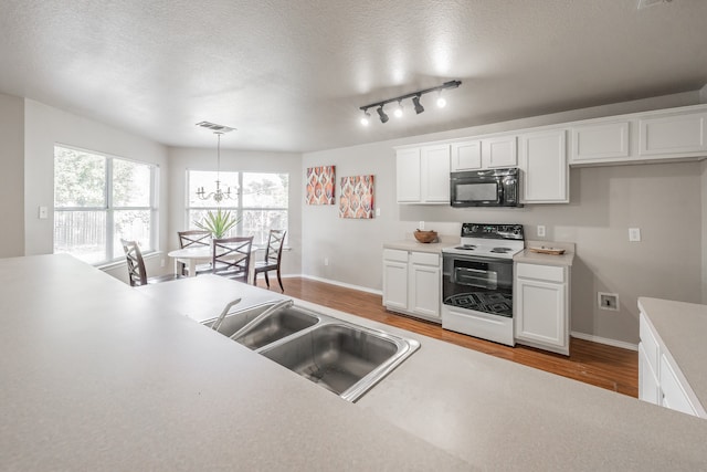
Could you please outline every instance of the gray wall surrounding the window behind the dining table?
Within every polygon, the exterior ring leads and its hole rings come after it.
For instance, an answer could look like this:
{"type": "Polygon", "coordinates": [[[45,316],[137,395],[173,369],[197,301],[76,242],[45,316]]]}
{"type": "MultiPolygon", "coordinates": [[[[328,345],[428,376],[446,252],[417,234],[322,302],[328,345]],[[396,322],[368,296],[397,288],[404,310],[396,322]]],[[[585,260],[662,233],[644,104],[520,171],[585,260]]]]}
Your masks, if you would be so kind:
{"type": "MultiPolygon", "coordinates": [[[[238,133],[238,132],[236,132],[238,133]]],[[[223,144],[228,139],[221,140],[223,144]]],[[[213,149],[170,148],[169,181],[169,245],[179,247],[177,231],[189,227],[186,221],[186,176],[187,169],[217,170],[215,139],[213,149]]],[[[283,275],[302,273],[302,156],[292,153],[262,153],[230,150],[221,148],[221,170],[241,172],[286,172],[289,175],[289,230],[287,247],[283,253],[283,275]]],[[[258,258],[262,255],[258,254],[258,258]]]]}

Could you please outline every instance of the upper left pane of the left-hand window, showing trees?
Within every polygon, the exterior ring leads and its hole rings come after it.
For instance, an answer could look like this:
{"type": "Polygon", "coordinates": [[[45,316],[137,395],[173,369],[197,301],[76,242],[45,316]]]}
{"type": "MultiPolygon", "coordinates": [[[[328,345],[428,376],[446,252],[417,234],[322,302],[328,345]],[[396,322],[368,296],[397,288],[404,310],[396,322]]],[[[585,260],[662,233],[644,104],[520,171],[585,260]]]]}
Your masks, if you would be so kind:
{"type": "Polygon", "coordinates": [[[106,158],[54,147],[54,207],[105,207],[106,158]]]}

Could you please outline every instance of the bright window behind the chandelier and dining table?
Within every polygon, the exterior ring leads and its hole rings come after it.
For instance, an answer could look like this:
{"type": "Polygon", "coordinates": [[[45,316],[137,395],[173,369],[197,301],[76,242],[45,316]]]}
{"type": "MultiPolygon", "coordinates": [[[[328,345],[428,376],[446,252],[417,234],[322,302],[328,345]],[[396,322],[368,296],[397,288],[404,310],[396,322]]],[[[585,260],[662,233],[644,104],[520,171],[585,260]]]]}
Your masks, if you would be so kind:
{"type": "MultiPolygon", "coordinates": [[[[221,189],[231,188],[232,199],[221,202],[221,209],[231,210],[241,218],[240,224],[230,235],[253,235],[254,244],[267,243],[271,229],[286,230],[288,224],[289,175],[268,172],[219,172],[221,189]]],[[[209,210],[219,206],[210,198],[201,200],[197,189],[203,187],[207,193],[215,188],[217,172],[202,170],[187,171],[187,220],[190,229],[201,221],[209,210]]]]}

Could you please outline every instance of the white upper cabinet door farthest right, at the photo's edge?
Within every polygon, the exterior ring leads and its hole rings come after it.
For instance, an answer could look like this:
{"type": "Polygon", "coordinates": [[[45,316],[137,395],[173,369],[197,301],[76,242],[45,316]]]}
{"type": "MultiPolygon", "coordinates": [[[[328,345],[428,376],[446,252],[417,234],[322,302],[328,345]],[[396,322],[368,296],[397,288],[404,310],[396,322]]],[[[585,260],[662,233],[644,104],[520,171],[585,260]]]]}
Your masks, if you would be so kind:
{"type": "Polygon", "coordinates": [[[640,120],[641,156],[707,151],[707,113],[687,113],[640,120]]]}

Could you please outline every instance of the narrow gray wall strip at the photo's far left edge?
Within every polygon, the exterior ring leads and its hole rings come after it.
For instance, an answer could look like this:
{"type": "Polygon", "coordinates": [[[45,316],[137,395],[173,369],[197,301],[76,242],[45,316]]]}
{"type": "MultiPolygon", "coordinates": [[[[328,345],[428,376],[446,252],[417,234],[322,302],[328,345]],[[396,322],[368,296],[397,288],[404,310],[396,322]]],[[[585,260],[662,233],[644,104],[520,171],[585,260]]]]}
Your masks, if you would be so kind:
{"type": "Polygon", "coordinates": [[[24,104],[0,94],[0,258],[24,254],[24,104]]]}

